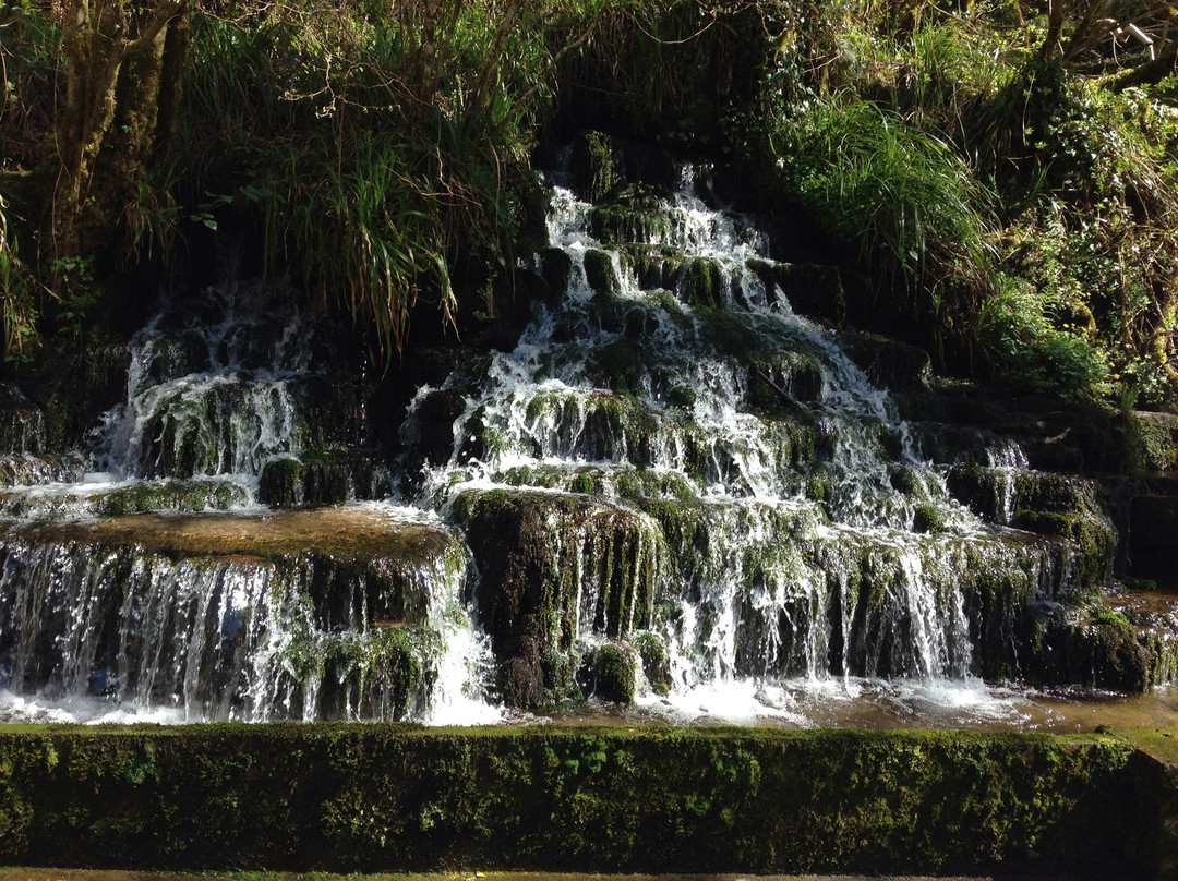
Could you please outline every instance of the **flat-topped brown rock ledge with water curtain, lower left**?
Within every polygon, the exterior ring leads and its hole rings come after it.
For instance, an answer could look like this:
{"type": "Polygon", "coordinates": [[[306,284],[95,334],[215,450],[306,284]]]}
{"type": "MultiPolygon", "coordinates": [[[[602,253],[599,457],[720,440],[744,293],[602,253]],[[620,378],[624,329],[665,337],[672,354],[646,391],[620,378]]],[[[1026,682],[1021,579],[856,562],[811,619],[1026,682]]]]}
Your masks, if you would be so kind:
{"type": "Polygon", "coordinates": [[[11,530],[2,684],[186,718],[403,718],[429,703],[465,551],[364,509],[11,530]]]}

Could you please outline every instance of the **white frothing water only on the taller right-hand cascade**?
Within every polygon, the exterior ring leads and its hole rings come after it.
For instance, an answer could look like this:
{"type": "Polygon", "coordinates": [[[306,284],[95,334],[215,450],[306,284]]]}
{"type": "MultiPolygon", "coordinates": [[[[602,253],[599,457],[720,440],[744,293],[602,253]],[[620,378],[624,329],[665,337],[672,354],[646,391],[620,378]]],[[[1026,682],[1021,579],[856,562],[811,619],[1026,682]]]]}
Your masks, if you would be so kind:
{"type": "MultiPolygon", "coordinates": [[[[655,715],[807,724],[820,715],[815,696],[871,693],[896,707],[1015,720],[1014,698],[977,678],[971,570],[985,556],[991,574],[1023,584],[1024,596],[1050,598],[1070,578],[1066,563],[1043,544],[1006,542],[948,496],[887,392],[748,267],[763,257],[763,236],[708,208],[687,185],[664,208],[669,223],[649,244],[717,261],[724,314],[686,303],[682,289],[642,290],[624,256],[591,234],[593,207],[555,187],[549,234],[570,258],[568,293],[541,309],[514,351],[494,356],[455,420],[450,461],[425,469],[424,497],[438,505],[496,486],[569,491],[584,473],[608,496],[641,473],[663,485],[673,477],[703,499],[704,547],[679,571],[654,576],[659,615],[633,622],[659,629],[669,654],[668,695],[656,696],[638,674],[640,703],[655,715]],[[610,290],[590,284],[594,251],[609,258],[610,290]],[[742,353],[716,342],[715,323],[733,317],[755,345],[816,365],[820,387],[801,403],[802,419],[766,417],[753,404],[742,353]],[[638,362],[623,392],[603,367],[618,347],[638,362]],[[893,486],[900,469],[907,492],[893,486]],[[828,488],[823,502],[807,491],[815,479],[828,488]],[[937,512],[937,535],[913,531],[921,508],[937,512]],[[867,584],[882,594],[863,618],[856,596],[867,584]]],[[[998,452],[1002,465],[1025,465],[1015,445],[998,452]]],[[[569,538],[576,548],[580,539],[569,538]]],[[[604,628],[595,627],[591,600],[584,608],[583,585],[601,574],[593,559],[561,554],[577,585],[576,640],[588,649],[604,628]]]]}

